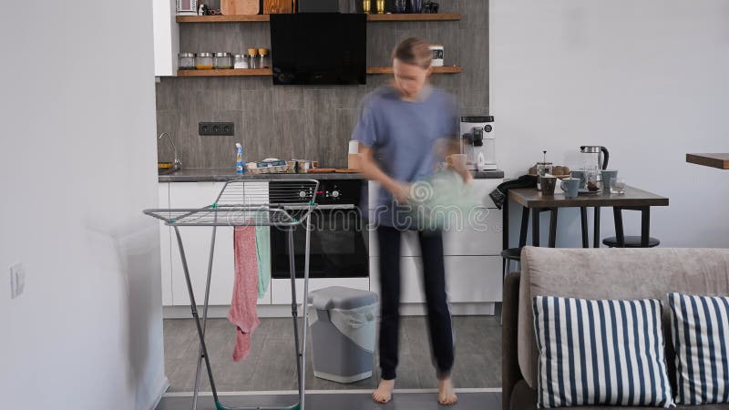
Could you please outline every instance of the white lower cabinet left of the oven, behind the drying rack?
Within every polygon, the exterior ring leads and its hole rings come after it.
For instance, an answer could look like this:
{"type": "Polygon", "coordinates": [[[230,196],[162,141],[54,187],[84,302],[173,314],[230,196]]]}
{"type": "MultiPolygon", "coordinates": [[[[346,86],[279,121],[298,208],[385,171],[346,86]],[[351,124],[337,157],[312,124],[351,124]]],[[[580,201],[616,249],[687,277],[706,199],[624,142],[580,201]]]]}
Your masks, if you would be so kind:
{"type": "MultiPolygon", "coordinates": [[[[256,182],[265,185],[267,182],[256,182]]],[[[224,182],[173,182],[169,184],[169,205],[171,208],[200,208],[214,202],[224,182]]],[[[190,281],[195,292],[195,302],[204,302],[205,282],[210,256],[211,227],[180,227],[180,236],[185,246],[190,270],[190,281]]],[[[180,250],[175,231],[171,230],[171,271],[173,305],[189,305],[190,297],[182,271],[180,250]]],[[[218,227],[215,237],[212,275],[210,280],[210,305],[229,305],[235,273],[233,252],[233,228],[218,227]]],[[[271,287],[259,299],[259,304],[271,303],[271,287]]]]}

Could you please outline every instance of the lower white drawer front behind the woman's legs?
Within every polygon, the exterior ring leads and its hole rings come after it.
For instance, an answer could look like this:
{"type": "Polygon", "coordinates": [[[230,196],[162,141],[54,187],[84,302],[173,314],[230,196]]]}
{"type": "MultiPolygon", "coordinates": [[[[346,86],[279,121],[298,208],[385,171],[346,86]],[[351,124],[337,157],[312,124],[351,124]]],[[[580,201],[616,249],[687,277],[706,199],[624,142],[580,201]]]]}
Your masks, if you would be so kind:
{"type": "MultiPolygon", "coordinates": [[[[503,292],[500,256],[445,256],[446,292],[453,303],[500,302],[503,292]],[[498,274],[494,274],[497,272],[498,274]]],[[[400,258],[400,302],[425,303],[423,261],[418,256],[400,258]]],[[[379,257],[370,258],[370,282],[379,292],[379,257]]]]}

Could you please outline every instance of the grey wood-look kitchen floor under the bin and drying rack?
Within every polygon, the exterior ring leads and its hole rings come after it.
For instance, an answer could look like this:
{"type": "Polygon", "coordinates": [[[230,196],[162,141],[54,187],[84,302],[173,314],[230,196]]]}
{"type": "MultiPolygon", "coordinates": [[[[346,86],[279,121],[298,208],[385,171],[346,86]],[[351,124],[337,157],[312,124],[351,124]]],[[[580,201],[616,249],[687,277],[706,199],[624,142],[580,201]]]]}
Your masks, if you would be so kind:
{"type": "MultiPolygon", "coordinates": [[[[244,361],[231,360],[235,333],[225,319],[208,322],[206,342],[213,377],[221,392],[296,390],[291,319],[262,319],[253,333],[252,351],[244,361]]],[[[501,327],[498,316],[457,316],[453,318],[456,335],[454,383],[459,388],[501,386],[501,327]]],[[[195,360],[199,343],[191,319],[164,321],[165,366],[169,392],[192,391],[195,360]]],[[[313,346],[309,343],[309,349],[313,346]]],[[[310,352],[309,352],[310,353],[310,352]]],[[[311,354],[307,353],[306,389],[369,389],[375,376],[354,384],[338,384],[313,377],[311,354]]],[[[376,360],[375,360],[376,364],[376,360]]],[[[201,391],[210,391],[203,366],[201,391]]],[[[400,336],[398,389],[435,388],[436,376],[430,359],[430,345],[424,317],[403,318],[400,336]]]]}

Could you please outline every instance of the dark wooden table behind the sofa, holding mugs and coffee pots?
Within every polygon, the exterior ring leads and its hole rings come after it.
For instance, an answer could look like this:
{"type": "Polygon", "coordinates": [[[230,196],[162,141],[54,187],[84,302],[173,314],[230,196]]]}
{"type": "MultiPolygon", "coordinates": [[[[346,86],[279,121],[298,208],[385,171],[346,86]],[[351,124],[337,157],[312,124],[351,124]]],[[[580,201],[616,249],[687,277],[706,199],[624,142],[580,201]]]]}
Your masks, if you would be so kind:
{"type": "MultiPolygon", "coordinates": [[[[587,208],[594,208],[594,241],[595,248],[600,247],[600,209],[612,207],[615,220],[615,234],[619,246],[624,245],[624,234],[622,230],[622,210],[640,210],[642,213],[641,243],[648,246],[651,226],[651,207],[668,206],[668,198],[656,195],[646,190],[639,190],[633,187],[625,187],[624,194],[599,193],[580,195],[577,198],[565,198],[563,193],[554,195],[542,195],[539,190],[533,188],[519,188],[508,190],[508,199],[515,200],[524,209],[521,214],[521,230],[519,232],[519,247],[527,244],[527,230],[529,226],[529,211],[532,216],[532,245],[539,246],[539,214],[544,211],[551,213],[549,219],[549,247],[557,245],[557,216],[560,208],[580,208],[580,219],[582,228],[582,247],[588,248],[589,237],[587,231],[587,208]]],[[[505,209],[508,208],[508,205],[505,209]]],[[[504,234],[503,248],[508,248],[508,211],[503,213],[504,234]]]]}

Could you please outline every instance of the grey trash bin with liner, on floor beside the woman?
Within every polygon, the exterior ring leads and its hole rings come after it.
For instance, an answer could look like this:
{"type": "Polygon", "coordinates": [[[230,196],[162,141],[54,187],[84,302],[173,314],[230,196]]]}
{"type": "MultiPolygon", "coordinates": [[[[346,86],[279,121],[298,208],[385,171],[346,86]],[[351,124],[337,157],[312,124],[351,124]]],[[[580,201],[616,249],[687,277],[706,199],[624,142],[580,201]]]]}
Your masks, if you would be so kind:
{"type": "Polygon", "coordinates": [[[342,286],[309,294],[314,376],[338,383],[372,377],[378,300],[342,286]]]}

